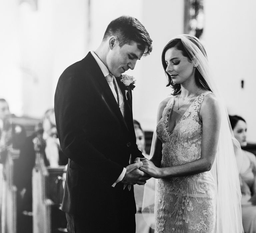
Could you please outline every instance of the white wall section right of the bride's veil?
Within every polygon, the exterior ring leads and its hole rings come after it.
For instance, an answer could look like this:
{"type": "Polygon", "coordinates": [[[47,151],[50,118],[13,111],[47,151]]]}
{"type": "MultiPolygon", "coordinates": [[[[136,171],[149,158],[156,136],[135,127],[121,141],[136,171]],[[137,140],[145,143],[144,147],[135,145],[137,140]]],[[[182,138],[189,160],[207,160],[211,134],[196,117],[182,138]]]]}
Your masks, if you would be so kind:
{"type": "Polygon", "coordinates": [[[248,123],[256,142],[256,1],[205,0],[205,47],[228,112],[248,123]],[[241,89],[244,80],[244,89],[241,89]]]}

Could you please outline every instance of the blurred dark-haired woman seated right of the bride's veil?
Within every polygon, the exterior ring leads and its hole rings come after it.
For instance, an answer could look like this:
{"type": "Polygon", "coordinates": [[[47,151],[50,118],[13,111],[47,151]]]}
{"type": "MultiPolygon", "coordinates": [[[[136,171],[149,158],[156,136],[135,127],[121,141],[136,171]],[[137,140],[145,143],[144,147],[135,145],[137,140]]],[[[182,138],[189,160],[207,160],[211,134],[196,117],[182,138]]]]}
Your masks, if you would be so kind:
{"type": "Polygon", "coordinates": [[[256,157],[243,149],[247,145],[247,124],[241,116],[229,116],[235,138],[242,147],[243,161],[239,173],[242,192],[242,222],[245,233],[256,233],[256,157]]]}

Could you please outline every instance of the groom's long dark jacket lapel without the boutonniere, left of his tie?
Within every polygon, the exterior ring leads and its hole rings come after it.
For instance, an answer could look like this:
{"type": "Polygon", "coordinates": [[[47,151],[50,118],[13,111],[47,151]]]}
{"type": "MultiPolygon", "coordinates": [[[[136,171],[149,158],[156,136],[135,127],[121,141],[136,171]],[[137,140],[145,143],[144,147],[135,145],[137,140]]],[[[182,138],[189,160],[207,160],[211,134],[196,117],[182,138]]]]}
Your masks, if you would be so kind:
{"type": "MultiPolygon", "coordinates": [[[[102,99],[105,101],[105,104],[109,106],[109,108],[112,110],[113,114],[118,118],[118,120],[124,126],[124,129],[126,131],[129,131],[128,126],[124,120],[124,117],[123,117],[123,115],[119,109],[119,106],[116,102],[116,99],[115,99],[115,97],[108,85],[108,82],[107,82],[106,78],[104,77],[98,63],[95,61],[95,59],[93,58],[91,53],[88,53],[88,55],[85,57],[85,59],[86,59],[86,62],[90,63],[92,81],[97,82],[96,87],[99,89],[99,92],[102,95],[102,99]]],[[[126,98],[124,97],[124,99],[126,99],[126,98]]]]}

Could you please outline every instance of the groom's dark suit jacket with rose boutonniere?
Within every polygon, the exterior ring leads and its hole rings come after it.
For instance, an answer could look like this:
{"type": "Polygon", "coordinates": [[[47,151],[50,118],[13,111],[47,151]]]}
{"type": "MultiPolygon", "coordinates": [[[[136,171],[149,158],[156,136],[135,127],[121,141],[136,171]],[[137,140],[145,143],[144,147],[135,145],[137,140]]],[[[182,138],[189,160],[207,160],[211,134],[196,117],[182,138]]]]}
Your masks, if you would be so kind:
{"type": "MultiPolygon", "coordinates": [[[[125,119],[97,62],[88,53],[60,76],[55,116],[61,149],[69,157],[62,209],[88,218],[115,218],[123,205],[136,212],[133,189],[111,185],[132,160],[143,157],[136,145],[132,94],[117,78],[125,101],[125,119]],[[127,189],[127,188],[126,188],[127,189]]],[[[98,220],[97,220],[98,221],[98,220]]]]}

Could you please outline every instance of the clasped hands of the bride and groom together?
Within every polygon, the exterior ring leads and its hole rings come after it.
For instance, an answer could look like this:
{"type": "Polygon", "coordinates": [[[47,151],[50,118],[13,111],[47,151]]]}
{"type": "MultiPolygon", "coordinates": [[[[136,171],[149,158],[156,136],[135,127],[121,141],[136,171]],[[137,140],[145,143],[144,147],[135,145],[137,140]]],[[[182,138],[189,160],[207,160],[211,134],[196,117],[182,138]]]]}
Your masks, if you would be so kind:
{"type": "Polygon", "coordinates": [[[136,158],[134,163],[126,167],[126,173],[122,182],[124,184],[143,185],[151,177],[159,178],[160,168],[147,158],[136,158]]]}

